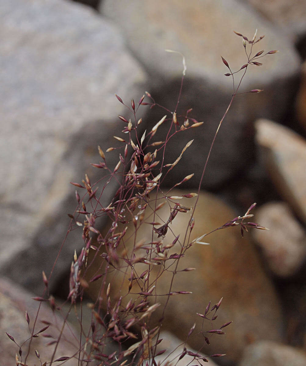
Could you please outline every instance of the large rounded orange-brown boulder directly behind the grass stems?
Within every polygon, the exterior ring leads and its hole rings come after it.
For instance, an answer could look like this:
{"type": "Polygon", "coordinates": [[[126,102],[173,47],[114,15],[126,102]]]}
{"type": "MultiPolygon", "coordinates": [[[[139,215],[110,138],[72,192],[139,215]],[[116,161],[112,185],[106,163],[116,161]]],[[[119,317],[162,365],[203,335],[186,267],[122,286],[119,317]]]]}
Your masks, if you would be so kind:
{"type": "MultiPolygon", "coordinates": [[[[190,193],[190,191],[171,191],[171,195],[174,196],[187,193],[190,193]]],[[[149,206],[155,203],[154,193],[151,193],[150,196],[151,201],[149,202],[149,206]]],[[[187,207],[194,205],[193,199],[173,198],[173,201],[179,201],[180,204],[187,207]]],[[[161,202],[157,201],[158,204],[161,202]]],[[[149,223],[153,220],[149,206],[146,209],[143,222],[149,223]],[[147,217],[148,219],[146,219],[147,217]]],[[[157,213],[158,216],[156,219],[160,223],[167,221],[169,217],[169,206],[164,205],[157,213]]],[[[236,213],[218,198],[201,192],[195,211],[195,226],[191,232],[190,242],[206,232],[220,227],[236,216],[236,213]]],[[[163,239],[164,244],[161,245],[172,243],[178,234],[180,234],[179,238],[183,242],[189,220],[189,213],[179,212],[172,224],[169,225],[168,234],[163,239]]],[[[105,228],[104,238],[107,229],[108,227],[105,228]]],[[[119,227],[118,230],[121,232],[122,227],[119,227]]],[[[133,232],[134,226],[131,224],[127,229],[127,239],[123,239],[125,250],[123,250],[123,247],[117,248],[117,253],[120,258],[122,256],[125,257],[126,253],[128,253],[128,258],[131,258],[131,250],[134,243],[133,232]]],[[[266,233],[268,235],[269,232],[266,233]]],[[[115,234],[112,235],[116,236],[115,234]]],[[[156,234],[152,236],[152,225],[144,223],[139,227],[137,226],[136,245],[137,243],[141,243],[145,246],[146,243],[152,242],[152,238],[153,240],[161,240],[161,238],[157,239],[156,234]]],[[[180,253],[180,240],[169,249],[168,257],[171,254],[180,253]]],[[[262,269],[255,248],[247,236],[245,239],[242,239],[239,228],[231,227],[221,229],[207,236],[207,239],[205,237],[203,240],[209,242],[210,245],[195,243],[187,250],[185,257],[180,260],[178,269],[176,269],[177,274],[174,277],[172,287],[170,286],[170,282],[175,268],[170,266],[170,262],[165,262],[164,265],[160,261],[162,264],[152,266],[153,269],[150,274],[148,289],[156,285],[156,288],[154,290],[152,289],[152,294],[156,294],[157,298],[155,296],[148,296],[147,299],[150,301],[150,305],[152,305],[152,302],[158,302],[161,303],[161,306],[152,314],[150,325],[153,327],[156,323],[159,324],[158,320],[161,318],[165,300],[167,299],[167,296],[158,295],[168,294],[169,291],[191,291],[192,294],[169,296],[169,303],[162,321],[162,329],[172,332],[184,341],[191,326],[194,322],[197,322],[194,333],[188,340],[189,345],[195,350],[201,350],[201,352],[208,355],[215,353],[227,354],[224,358],[219,358],[218,362],[222,362],[223,365],[233,364],[237,362],[242,350],[250,341],[263,338],[280,341],[281,328],[283,327],[280,303],[271,281],[266,277],[262,269]],[[164,266],[167,270],[161,275],[164,266]],[[185,268],[196,268],[196,270],[182,272],[185,268]],[[158,281],[155,282],[154,279],[157,277],[158,281]],[[204,321],[204,325],[202,325],[203,319],[197,316],[196,313],[204,314],[208,302],[212,300],[213,306],[221,297],[224,297],[224,299],[221,309],[218,310],[218,318],[213,321],[213,325],[208,321],[207,323],[204,321]],[[234,322],[227,328],[224,328],[226,335],[214,335],[210,339],[210,346],[208,346],[205,343],[204,336],[199,333],[201,329],[204,332],[211,329],[219,329],[221,325],[228,321],[234,322]]],[[[109,251],[107,248],[106,245],[102,246],[102,251],[109,251]]],[[[94,253],[96,252],[93,251],[91,255],[94,253]]],[[[137,250],[135,255],[136,258],[142,258],[146,255],[145,249],[137,250]]],[[[155,257],[159,258],[159,255],[154,253],[152,258],[155,257]]],[[[105,266],[102,266],[101,260],[102,258],[97,255],[96,262],[93,265],[91,264],[87,269],[87,282],[90,283],[90,279],[93,276],[97,276],[99,273],[105,273],[105,266]]],[[[154,259],[154,261],[156,260],[154,259]]],[[[91,260],[89,259],[88,264],[90,263],[91,260]]],[[[105,307],[107,300],[104,296],[109,282],[111,291],[110,298],[112,300],[111,309],[115,306],[115,301],[119,296],[123,297],[122,306],[124,307],[131,298],[134,300],[139,299],[139,295],[137,294],[139,291],[143,291],[139,290],[137,285],[138,280],[135,280],[130,293],[128,293],[130,284],[128,278],[131,276],[131,268],[126,262],[119,261],[116,265],[112,261],[112,265],[115,265],[116,268],[119,267],[120,270],[115,270],[111,266],[108,277],[103,277],[103,281],[100,279],[90,283],[88,289],[89,295],[93,299],[99,297],[104,300],[105,307]]],[[[149,267],[148,264],[137,262],[133,268],[136,277],[140,276],[149,267]]],[[[144,280],[139,279],[139,281],[139,283],[142,283],[144,280]]],[[[212,315],[210,314],[210,316],[212,315]]],[[[204,333],[205,336],[209,334],[204,333]]]]}

